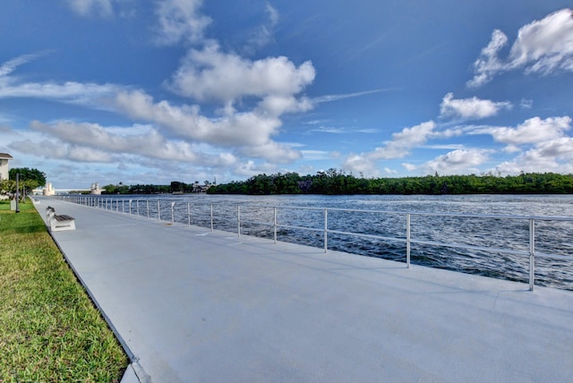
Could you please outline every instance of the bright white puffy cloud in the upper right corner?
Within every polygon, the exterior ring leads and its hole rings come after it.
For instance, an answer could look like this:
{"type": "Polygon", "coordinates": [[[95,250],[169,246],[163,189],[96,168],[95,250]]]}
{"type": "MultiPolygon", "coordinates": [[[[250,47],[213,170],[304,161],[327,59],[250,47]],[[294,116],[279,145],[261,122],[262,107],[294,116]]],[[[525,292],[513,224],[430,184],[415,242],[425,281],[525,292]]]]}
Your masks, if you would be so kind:
{"type": "Polygon", "coordinates": [[[517,32],[509,56],[501,59],[500,50],[507,43],[502,31],[493,31],[490,43],[474,63],[475,76],[467,82],[468,87],[482,86],[496,74],[516,69],[542,75],[573,72],[573,11],[562,9],[526,24],[517,32]]]}

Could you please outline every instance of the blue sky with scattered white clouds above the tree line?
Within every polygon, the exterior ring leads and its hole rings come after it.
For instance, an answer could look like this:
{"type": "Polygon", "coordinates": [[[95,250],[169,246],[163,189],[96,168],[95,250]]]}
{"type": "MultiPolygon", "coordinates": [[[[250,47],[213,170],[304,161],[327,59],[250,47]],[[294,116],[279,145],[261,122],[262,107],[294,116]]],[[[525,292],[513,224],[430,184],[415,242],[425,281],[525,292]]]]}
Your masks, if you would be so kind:
{"type": "Polygon", "coordinates": [[[573,173],[567,1],[0,7],[0,152],[56,188],[573,173]]]}

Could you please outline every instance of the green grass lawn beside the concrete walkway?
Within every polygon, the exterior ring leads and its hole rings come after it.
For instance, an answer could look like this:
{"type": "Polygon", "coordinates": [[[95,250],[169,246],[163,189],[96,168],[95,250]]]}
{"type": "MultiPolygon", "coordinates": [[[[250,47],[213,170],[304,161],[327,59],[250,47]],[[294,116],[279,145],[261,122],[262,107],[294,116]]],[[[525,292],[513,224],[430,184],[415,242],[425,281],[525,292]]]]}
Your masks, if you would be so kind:
{"type": "Polygon", "coordinates": [[[121,380],[129,361],[28,202],[0,201],[0,382],[121,380]]]}

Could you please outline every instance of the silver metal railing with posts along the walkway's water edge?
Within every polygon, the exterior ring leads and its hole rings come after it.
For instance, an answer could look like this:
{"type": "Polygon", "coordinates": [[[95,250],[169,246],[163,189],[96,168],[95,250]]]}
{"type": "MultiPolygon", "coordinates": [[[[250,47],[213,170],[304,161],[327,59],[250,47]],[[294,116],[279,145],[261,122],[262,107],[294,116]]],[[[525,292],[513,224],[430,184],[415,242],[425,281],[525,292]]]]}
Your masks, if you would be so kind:
{"type": "MultiPolygon", "coordinates": [[[[167,204],[168,207],[171,209],[171,217],[170,220],[172,223],[175,223],[175,204],[177,202],[183,202],[184,207],[187,210],[187,222],[188,226],[191,226],[191,203],[188,200],[183,199],[133,199],[133,198],[107,198],[105,196],[73,196],[73,197],[66,197],[66,196],[56,196],[56,198],[60,198],[62,200],[71,200],[75,203],[80,204],[88,204],[91,207],[95,208],[102,208],[108,210],[114,210],[114,202],[115,202],[115,211],[119,212],[119,203],[121,200],[122,203],[122,210],[121,212],[124,213],[124,201],[129,200],[129,214],[132,214],[132,201],[135,200],[135,206],[137,215],[140,215],[139,205],[141,202],[146,202],[147,205],[147,217],[150,217],[150,201],[157,201],[157,217],[158,220],[161,220],[161,201],[164,204],[167,204]],[[97,200],[97,202],[96,202],[97,200]]],[[[205,204],[201,204],[201,206],[205,206],[205,204]]],[[[238,236],[241,236],[241,225],[242,224],[252,224],[257,226],[272,226],[274,229],[274,241],[277,243],[277,231],[278,228],[290,228],[290,229],[297,229],[297,230],[306,230],[306,231],[313,231],[313,232],[323,232],[324,233],[324,251],[328,251],[328,234],[341,234],[341,235],[351,235],[356,237],[363,237],[363,238],[375,238],[382,241],[389,241],[389,242],[401,242],[406,243],[406,268],[410,266],[410,245],[412,243],[423,244],[423,245],[430,245],[430,246],[439,246],[439,247],[449,247],[449,248],[457,248],[457,249],[466,249],[466,250],[475,250],[475,251],[490,251],[490,252],[500,252],[500,253],[507,253],[507,254],[514,254],[514,255],[523,255],[529,256],[529,289],[533,290],[535,285],[535,257],[545,257],[545,258],[554,258],[554,259],[566,259],[571,260],[571,257],[563,256],[560,254],[548,254],[535,251],[535,222],[536,221],[560,221],[560,222],[573,222],[573,217],[549,217],[549,216],[513,216],[513,215],[496,215],[496,214],[467,214],[467,213],[450,213],[450,212],[423,212],[423,211],[404,211],[404,210],[381,210],[381,209],[347,209],[347,208],[321,208],[321,207],[309,207],[309,206],[296,206],[296,205],[271,205],[271,204],[252,204],[252,203],[228,203],[225,201],[219,202],[210,202],[210,230],[213,231],[214,229],[214,206],[225,206],[229,209],[235,208],[235,217],[236,217],[236,233],[238,236]],[[251,221],[245,220],[241,216],[242,208],[245,209],[273,209],[273,218],[272,222],[261,222],[259,221],[251,221]],[[323,216],[323,227],[309,227],[309,226],[296,226],[296,225],[285,225],[279,224],[277,217],[278,217],[278,209],[288,209],[288,210],[315,210],[321,211],[323,216]],[[392,237],[392,236],[384,236],[378,234],[364,234],[364,233],[355,233],[355,232],[347,232],[343,230],[334,230],[329,229],[329,222],[328,216],[329,212],[335,211],[343,211],[343,212],[353,212],[353,213],[366,213],[366,214],[385,214],[385,215],[393,215],[393,216],[406,216],[406,234],[405,236],[399,237],[392,237]],[[529,231],[529,240],[528,240],[528,250],[516,250],[514,248],[509,249],[500,249],[500,248],[492,248],[492,247],[485,247],[485,246],[477,246],[477,245],[468,245],[462,243],[444,243],[444,242],[435,242],[429,240],[422,240],[422,239],[413,239],[411,238],[411,217],[412,216],[425,216],[425,217],[462,217],[462,218],[489,218],[489,219],[512,219],[512,220],[527,220],[529,222],[528,231],[529,231]]],[[[163,219],[167,219],[164,217],[163,219]]]]}

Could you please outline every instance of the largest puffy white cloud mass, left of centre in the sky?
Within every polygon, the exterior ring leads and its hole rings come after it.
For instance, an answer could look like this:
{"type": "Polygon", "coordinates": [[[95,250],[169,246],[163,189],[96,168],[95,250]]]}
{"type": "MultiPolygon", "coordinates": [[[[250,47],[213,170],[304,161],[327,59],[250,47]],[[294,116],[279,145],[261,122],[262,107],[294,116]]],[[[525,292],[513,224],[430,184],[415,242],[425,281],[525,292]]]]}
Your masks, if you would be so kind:
{"type": "Polygon", "coordinates": [[[218,115],[201,115],[196,105],[155,102],[143,90],[119,92],[115,106],[183,139],[232,147],[244,156],[289,162],[301,157],[300,151],[271,137],[282,125],[281,115],[312,109],[312,100],[299,94],[314,75],[311,62],[296,66],[285,56],[253,61],[222,52],[218,44],[210,43],[189,51],[169,86],[184,97],[222,106],[218,115]],[[245,98],[251,102],[246,107],[240,102],[245,98]],[[237,110],[237,104],[244,110],[237,110]]]}

